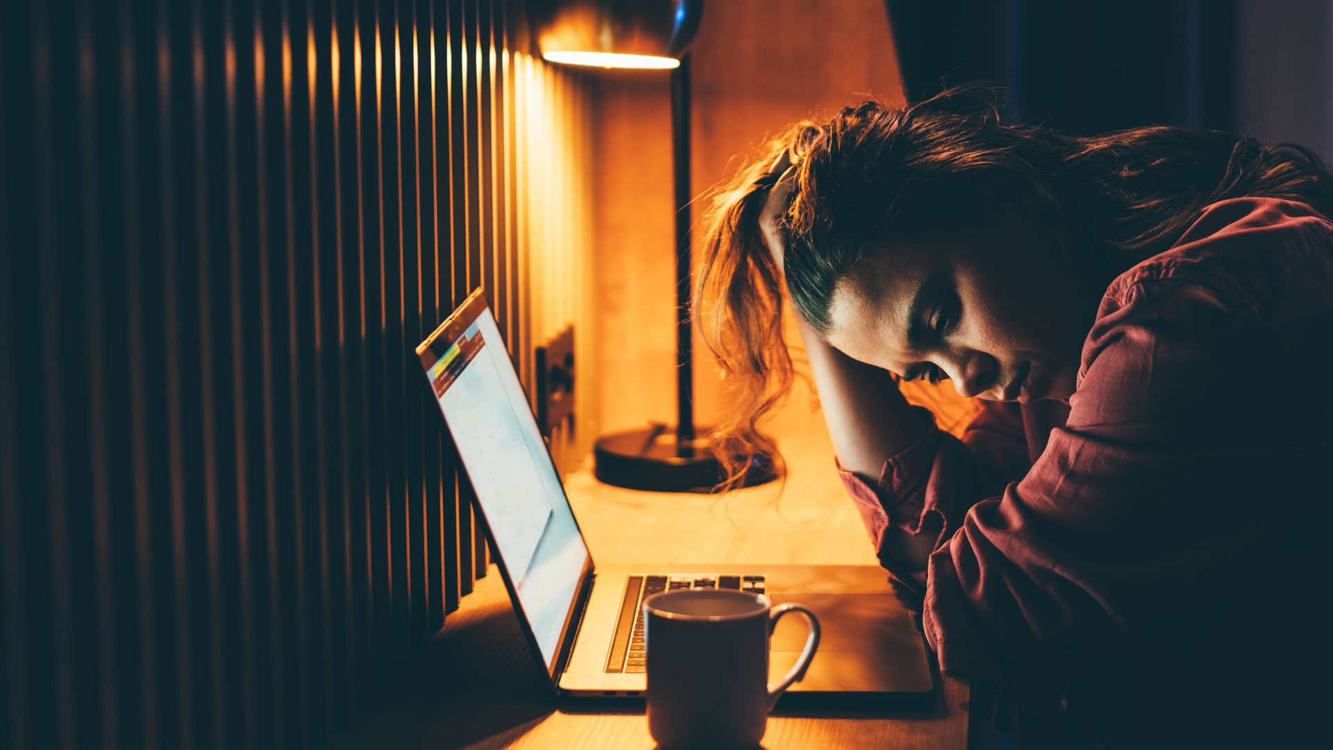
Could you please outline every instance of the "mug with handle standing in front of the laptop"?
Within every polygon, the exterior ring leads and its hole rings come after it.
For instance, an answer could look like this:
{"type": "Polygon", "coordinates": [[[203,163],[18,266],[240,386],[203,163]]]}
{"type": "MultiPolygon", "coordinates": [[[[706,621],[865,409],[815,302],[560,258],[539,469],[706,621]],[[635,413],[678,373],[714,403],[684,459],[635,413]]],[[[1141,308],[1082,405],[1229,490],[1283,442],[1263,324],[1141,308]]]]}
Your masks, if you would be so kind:
{"type": "Polygon", "coordinates": [[[770,606],[746,591],[663,591],[644,601],[648,645],[648,731],[663,750],[754,747],[768,713],[805,675],[820,622],[801,605],[770,606]],[[796,666],[768,685],[768,638],[798,611],[810,626],[796,666]]]}

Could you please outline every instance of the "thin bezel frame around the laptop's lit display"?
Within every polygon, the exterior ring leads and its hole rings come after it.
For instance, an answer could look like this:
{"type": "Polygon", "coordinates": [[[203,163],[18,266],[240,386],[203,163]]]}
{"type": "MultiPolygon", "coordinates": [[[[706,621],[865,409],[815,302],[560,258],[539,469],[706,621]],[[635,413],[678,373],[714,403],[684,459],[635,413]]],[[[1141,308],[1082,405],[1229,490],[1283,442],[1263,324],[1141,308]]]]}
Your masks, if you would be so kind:
{"type": "MultiPolygon", "coordinates": [[[[444,320],[444,323],[440,323],[440,326],[436,327],[435,332],[427,336],[427,339],[420,344],[417,344],[416,347],[416,355],[417,359],[421,362],[423,367],[421,370],[423,379],[419,382],[424,383],[427,392],[431,395],[431,403],[435,404],[433,411],[440,416],[440,423],[444,426],[444,430],[448,432],[451,439],[455,439],[455,435],[449,427],[449,419],[444,415],[444,410],[440,407],[440,402],[435,396],[435,388],[432,387],[431,376],[427,372],[440,356],[439,354],[432,351],[432,344],[440,340],[441,338],[444,338],[447,342],[452,344],[452,342],[456,342],[459,338],[461,338],[464,332],[467,332],[467,330],[481,316],[483,311],[488,308],[489,306],[487,303],[483,287],[477,287],[471,295],[468,295],[468,299],[463,300],[463,304],[460,304],[457,310],[455,310],[453,314],[451,314],[444,320]],[[435,359],[427,362],[428,356],[435,359]]],[[[509,348],[505,342],[487,342],[487,343],[488,344],[499,343],[500,346],[504,346],[505,355],[509,354],[509,348]]],[[[511,367],[513,367],[512,362],[511,367]]],[[[524,400],[528,404],[529,412],[532,412],[532,396],[528,394],[528,388],[523,386],[523,379],[519,379],[519,386],[523,388],[524,400]]],[[[533,419],[536,419],[536,415],[533,415],[533,419]]],[[[551,470],[556,475],[556,482],[560,483],[560,494],[564,496],[565,503],[569,503],[569,495],[568,492],[565,492],[564,479],[560,476],[560,470],[556,467],[555,459],[551,456],[549,447],[547,448],[545,454],[547,454],[547,460],[551,462],[551,470]]],[[[461,459],[459,460],[459,464],[463,468],[464,474],[467,474],[468,467],[463,464],[461,459]]],[[[476,498],[476,492],[473,492],[473,498],[476,498]]],[[[485,508],[481,507],[481,502],[475,499],[472,506],[475,511],[481,516],[483,522],[485,522],[485,508]]],[[[495,544],[495,539],[492,538],[491,534],[491,524],[484,523],[484,526],[487,527],[487,539],[496,548],[497,552],[496,567],[500,569],[500,578],[504,581],[505,589],[509,591],[509,603],[513,605],[515,607],[515,614],[517,615],[519,626],[523,629],[523,634],[528,639],[528,647],[537,657],[537,661],[545,667],[547,678],[551,681],[551,689],[557,693],[559,693],[557,685],[560,673],[563,671],[564,662],[567,661],[569,654],[571,629],[577,623],[580,611],[585,605],[587,591],[591,587],[595,570],[592,550],[589,550],[588,547],[588,539],[587,536],[584,536],[583,527],[579,526],[579,516],[577,514],[573,512],[572,504],[569,507],[569,512],[573,516],[575,528],[579,531],[579,539],[583,542],[584,546],[584,563],[583,563],[583,570],[579,574],[579,585],[575,589],[575,598],[571,601],[569,611],[565,613],[565,621],[560,626],[560,639],[556,642],[557,649],[549,665],[547,663],[547,658],[541,653],[541,645],[537,641],[536,633],[532,631],[532,625],[529,623],[528,615],[523,609],[523,601],[519,598],[519,591],[515,586],[513,575],[511,575],[509,567],[504,562],[504,555],[499,554],[499,546],[495,544]]]]}

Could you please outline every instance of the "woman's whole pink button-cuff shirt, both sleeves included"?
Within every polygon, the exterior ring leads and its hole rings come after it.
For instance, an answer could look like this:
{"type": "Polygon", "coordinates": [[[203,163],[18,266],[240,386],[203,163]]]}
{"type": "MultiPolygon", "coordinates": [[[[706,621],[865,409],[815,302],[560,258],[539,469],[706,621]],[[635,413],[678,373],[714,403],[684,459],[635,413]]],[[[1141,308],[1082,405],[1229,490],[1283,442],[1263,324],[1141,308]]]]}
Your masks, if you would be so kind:
{"type": "Polygon", "coordinates": [[[1068,404],[988,402],[876,487],[841,472],[877,548],[942,523],[925,574],[880,550],[941,669],[1037,710],[1145,654],[1177,694],[1240,659],[1328,695],[1330,231],[1302,203],[1216,203],[1106,290],[1068,404]]]}

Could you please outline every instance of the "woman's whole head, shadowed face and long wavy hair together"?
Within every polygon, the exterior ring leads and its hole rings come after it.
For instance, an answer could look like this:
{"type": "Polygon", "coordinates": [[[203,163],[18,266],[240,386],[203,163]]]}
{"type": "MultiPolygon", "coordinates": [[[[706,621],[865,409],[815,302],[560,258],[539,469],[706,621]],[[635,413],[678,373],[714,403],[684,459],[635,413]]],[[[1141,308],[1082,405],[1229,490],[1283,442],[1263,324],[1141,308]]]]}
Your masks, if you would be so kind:
{"type": "Polygon", "coordinates": [[[772,448],[756,427],[792,379],[784,294],[829,344],[897,375],[1066,399],[1110,279],[1241,195],[1333,210],[1308,152],[1165,127],[1065,136],[1002,123],[978,88],[793,127],[716,194],[704,236],[697,319],[740,396],[724,460],[772,448]],[[780,270],[757,218],[782,153],[780,270]]]}

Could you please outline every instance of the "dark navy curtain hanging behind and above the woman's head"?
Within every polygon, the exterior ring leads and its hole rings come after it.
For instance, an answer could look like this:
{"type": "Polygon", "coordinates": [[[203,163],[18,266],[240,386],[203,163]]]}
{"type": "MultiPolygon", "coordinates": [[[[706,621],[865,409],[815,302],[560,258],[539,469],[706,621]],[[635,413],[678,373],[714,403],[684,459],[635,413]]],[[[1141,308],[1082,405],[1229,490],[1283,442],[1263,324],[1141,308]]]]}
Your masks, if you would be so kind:
{"type": "Polygon", "coordinates": [[[1010,116],[1088,135],[1236,127],[1236,0],[885,0],[908,99],[986,80],[1010,116]]]}

